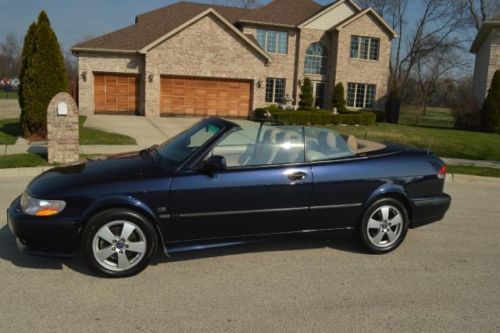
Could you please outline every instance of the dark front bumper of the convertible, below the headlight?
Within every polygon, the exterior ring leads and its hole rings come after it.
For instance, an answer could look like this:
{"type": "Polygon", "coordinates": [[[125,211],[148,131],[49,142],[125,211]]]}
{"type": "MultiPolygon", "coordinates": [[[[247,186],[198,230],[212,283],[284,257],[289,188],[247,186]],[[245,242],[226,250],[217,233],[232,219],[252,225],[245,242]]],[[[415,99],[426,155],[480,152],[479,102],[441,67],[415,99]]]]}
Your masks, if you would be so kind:
{"type": "Polygon", "coordinates": [[[23,213],[20,197],[7,209],[7,223],[23,252],[72,256],[78,248],[79,223],[63,217],[36,217],[23,213]]]}

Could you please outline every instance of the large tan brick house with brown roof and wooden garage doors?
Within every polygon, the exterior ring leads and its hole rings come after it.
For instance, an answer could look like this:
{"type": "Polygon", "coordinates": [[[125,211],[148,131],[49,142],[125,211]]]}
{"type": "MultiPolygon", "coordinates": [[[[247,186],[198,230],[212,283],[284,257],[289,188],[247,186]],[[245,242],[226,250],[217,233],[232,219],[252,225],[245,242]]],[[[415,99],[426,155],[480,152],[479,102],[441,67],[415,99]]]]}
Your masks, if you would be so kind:
{"type": "Polygon", "coordinates": [[[297,103],[305,77],[318,107],[330,107],[342,82],[349,107],[375,108],[396,36],[351,0],[274,0],[256,9],[177,2],[73,46],[80,112],[248,117],[297,103]]]}

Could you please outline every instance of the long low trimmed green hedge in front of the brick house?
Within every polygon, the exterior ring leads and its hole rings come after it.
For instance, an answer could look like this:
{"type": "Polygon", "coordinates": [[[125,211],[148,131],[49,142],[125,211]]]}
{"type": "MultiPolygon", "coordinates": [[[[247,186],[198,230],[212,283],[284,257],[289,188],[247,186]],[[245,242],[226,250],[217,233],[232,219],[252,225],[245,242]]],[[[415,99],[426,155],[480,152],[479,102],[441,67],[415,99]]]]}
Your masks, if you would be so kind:
{"type": "Polygon", "coordinates": [[[376,115],[373,112],[352,112],[349,114],[333,114],[329,111],[274,111],[269,109],[256,109],[257,119],[271,113],[271,120],[284,125],[375,125],[376,115]]]}

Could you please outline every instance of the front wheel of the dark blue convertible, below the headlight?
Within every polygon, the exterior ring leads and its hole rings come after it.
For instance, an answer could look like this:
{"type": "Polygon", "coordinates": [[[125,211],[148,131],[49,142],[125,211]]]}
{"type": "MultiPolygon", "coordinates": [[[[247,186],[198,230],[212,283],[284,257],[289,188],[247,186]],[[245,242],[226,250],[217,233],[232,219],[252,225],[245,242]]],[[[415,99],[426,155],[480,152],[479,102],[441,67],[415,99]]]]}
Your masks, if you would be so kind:
{"type": "Polygon", "coordinates": [[[82,254],[97,274],[127,277],[148,266],[157,242],[154,226],[147,218],[116,208],[90,218],[82,233],[82,254]]]}

